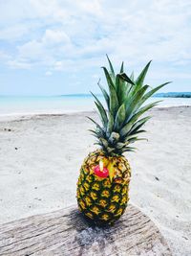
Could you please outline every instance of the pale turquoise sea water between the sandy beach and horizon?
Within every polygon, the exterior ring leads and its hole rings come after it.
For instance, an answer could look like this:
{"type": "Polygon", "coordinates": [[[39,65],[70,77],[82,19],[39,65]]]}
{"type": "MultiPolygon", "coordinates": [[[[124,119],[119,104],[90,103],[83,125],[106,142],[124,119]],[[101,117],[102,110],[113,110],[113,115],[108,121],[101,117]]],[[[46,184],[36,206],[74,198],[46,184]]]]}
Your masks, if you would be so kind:
{"type": "MultiPolygon", "coordinates": [[[[98,97],[103,101],[102,97],[98,97]]],[[[191,105],[191,98],[157,98],[149,102],[162,100],[159,106],[191,105]]],[[[95,109],[91,95],[65,96],[0,96],[0,115],[31,113],[64,113],[91,111],[95,109]]]]}

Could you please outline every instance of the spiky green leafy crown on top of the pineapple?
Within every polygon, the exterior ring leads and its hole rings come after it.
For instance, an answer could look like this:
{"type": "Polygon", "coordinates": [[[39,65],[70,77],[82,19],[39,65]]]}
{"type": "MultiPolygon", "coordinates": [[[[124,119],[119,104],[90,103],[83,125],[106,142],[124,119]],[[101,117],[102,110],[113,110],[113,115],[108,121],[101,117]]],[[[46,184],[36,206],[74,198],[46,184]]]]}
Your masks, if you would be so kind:
{"type": "Polygon", "coordinates": [[[119,73],[116,75],[113,64],[108,56],[107,59],[109,71],[106,67],[102,68],[108,84],[108,92],[98,81],[106,107],[91,92],[95,98],[101,125],[92,118],[88,118],[96,125],[94,130],[90,129],[93,135],[96,136],[95,144],[99,145],[106,155],[114,156],[121,155],[125,151],[135,151],[136,148],[129,145],[138,140],[145,140],[145,138],[139,138],[138,135],[145,132],[142,127],[151,116],[140,117],[149,109],[158,105],[160,101],[148,105],[144,105],[144,103],[170,81],[151,88],[151,86],[144,84],[151,61],[143,68],[138,78],[134,79],[134,73],[130,77],[124,73],[123,62],[119,73]]]}

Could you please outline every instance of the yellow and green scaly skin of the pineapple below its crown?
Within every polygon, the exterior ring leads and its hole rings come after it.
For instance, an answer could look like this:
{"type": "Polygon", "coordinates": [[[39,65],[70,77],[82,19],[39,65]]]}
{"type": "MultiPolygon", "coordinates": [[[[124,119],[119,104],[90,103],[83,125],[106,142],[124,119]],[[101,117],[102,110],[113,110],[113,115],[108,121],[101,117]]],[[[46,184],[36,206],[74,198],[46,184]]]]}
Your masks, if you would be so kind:
{"type": "Polygon", "coordinates": [[[107,157],[103,151],[93,151],[85,158],[77,181],[79,211],[97,225],[113,224],[124,213],[129,200],[131,168],[123,155],[107,157]],[[111,162],[114,177],[98,177],[94,168],[102,160],[104,167],[111,162]]]}

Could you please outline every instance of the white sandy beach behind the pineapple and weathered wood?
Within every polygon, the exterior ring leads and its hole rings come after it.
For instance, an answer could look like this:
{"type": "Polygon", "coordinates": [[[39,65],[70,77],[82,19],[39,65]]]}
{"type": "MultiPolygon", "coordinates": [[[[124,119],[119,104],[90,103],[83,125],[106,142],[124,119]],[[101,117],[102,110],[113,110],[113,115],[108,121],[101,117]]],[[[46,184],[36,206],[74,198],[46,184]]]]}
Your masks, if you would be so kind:
{"type": "MultiPolygon", "coordinates": [[[[131,202],[159,226],[173,255],[191,255],[191,107],[156,108],[148,142],[130,153],[131,202]]],[[[88,113],[96,116],[95,113],[88,113]]],[[[94,150],[87,113],[0,120],[0,223],[74,204],[94,150]],[[9,129],[11,129],[9,131],[9,129]]]]}

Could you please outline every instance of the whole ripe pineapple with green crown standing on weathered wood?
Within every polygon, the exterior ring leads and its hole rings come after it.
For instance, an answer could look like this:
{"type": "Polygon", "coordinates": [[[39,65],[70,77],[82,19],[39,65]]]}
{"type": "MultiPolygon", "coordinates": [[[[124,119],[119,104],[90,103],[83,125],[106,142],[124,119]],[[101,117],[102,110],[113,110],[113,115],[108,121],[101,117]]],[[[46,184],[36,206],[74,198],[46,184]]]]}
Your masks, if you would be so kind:
{"type": "Polygon", "coordinates": [[[138,138],[138,135],[145,132],[142,127],[150,119],[150,116],[141,116],[159,102],[143,104],[168,83],[150,90],[149,85],[144,85],[151,61],[135,80],[133,73],[130,77],[124,73],[123,62],[116,75],[108,56],[107,59],[110,69],[108,71],[103,67],[103,71],[109,92],[98,82],[106,107],[92,93],[101,125],[89,117],[96,125],[91,132],[100,149],[85,158],[77,181],[76,195],[80,212],[98,225],[114,223],[127,207],[131,168],[123,153],[136,150],[130,144],[143,139],[138,138]]]}

